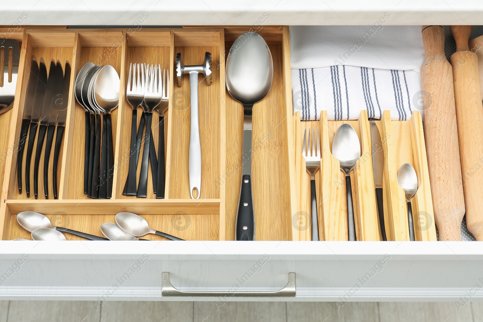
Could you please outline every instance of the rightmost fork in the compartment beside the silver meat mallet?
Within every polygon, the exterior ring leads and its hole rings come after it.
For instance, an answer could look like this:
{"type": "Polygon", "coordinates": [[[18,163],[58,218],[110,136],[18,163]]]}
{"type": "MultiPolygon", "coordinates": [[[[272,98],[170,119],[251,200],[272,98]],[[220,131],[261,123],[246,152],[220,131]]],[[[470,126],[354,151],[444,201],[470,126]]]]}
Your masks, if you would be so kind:
{"type": "MultiPolygon", "coordinates": [[[[161,70],[160,70],[161,71],[161,70]]],[[[161,76],[161,75],[160,75],[161,76]]],[[[166,184],[166,165],[164,163],[164,113],[168,110],[170,95],[170,70],[166,80],[166,70],[163,70],[163,90],[161,103],[157,106],[159,112],[159,141],[157,146],[157,190],[156,199],[164,199],[164,186],[166,184]]]]}

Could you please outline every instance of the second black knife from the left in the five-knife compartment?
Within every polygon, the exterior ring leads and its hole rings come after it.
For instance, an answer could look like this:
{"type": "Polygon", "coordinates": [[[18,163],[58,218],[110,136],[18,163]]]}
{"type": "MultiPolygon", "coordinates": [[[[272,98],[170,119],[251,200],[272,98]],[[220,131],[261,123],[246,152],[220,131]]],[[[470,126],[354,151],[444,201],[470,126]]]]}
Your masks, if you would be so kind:
{"type": "Polygon", "coordinates": [[[27,196],[30,196],[30,161],[32,159],[33,143],[37,135],[37,126],[39,125],[40,114],[42,113],[43,97],[45,95],[45,87],[47,86],[47,67],[43,58],[40,58],[39,74],[37,84],[35,86],[35,94],[32,103],[32,114],[30,117],[30,130],[28,132],[27,160],[25,163],[25,190],[27,196]]]}

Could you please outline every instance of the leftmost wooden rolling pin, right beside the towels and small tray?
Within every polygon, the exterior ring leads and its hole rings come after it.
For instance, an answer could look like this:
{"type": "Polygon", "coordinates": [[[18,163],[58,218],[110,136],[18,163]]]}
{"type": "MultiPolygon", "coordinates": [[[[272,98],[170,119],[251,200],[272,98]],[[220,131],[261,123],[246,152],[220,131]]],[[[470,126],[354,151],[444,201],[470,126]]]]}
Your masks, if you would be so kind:
{"type": "MultiPolygon", "coordinates": [[[[421,68],[424,135],[434,219],[440,240],[461,240],[465,215],[451,65],[444,56],[444,28],[423,26],[421,68]]],[[[428,227],[429,228],[429,227],[428,227]]]]}

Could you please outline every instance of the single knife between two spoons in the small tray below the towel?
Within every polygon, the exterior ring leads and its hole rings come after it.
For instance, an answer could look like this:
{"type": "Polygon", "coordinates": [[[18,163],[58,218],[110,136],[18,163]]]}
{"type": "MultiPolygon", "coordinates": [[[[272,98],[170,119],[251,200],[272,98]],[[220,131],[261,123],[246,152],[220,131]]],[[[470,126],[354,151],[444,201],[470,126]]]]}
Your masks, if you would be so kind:
{"type": "Polygon", "coordinates": [[[374,175],[374,185],[376,186],[377,211],[381,225],[381,237],[386,241],[383,205],[384,150],[381,134],[379,133],[376,122],[373,120],[370,121],[370,136],[372,141],[372,173],[374,175]]]}

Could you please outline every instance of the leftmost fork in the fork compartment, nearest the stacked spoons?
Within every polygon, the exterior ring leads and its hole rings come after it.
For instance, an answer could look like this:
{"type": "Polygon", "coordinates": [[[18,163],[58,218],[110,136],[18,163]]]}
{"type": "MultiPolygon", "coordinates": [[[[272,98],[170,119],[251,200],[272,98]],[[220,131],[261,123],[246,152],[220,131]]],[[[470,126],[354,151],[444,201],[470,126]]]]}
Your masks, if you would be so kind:
{"type": "Polygon", "coordinates": [[[128,179],[124,186],[123,195],[136,196],[136,129],[138,125],[138,107],[144,100],[144,68],[140,64],[129,64],[128,88],[126,90],[126,98],[129,105],[132,106],[132,123],[131,123],[131,144],[129,148],[129,170],[128,179]],[[137,73],[136,73],[137,70],[137,73]],[[141,70],[141,73],[140,73],[141,70]],[[132,89],[131,89],[132,74],[132,89]]]}

